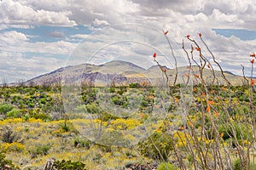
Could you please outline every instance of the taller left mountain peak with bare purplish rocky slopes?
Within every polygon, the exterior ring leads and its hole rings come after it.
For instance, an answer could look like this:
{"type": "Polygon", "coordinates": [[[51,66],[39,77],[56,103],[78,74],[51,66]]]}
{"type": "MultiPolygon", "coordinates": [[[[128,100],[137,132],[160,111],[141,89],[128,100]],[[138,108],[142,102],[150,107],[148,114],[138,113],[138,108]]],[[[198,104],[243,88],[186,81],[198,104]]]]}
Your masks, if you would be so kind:
{"type": "Polygon", "coordinates": [[[69,65],[61,67],[55,71],[34,77],[25,82],[29,84],[54,84],[57,82],[73,83],[73,82],[109,82],[115,79],[117,82],[132,82],[131,77],[133,74],[140,74],[146,70],[140,66],[134,65],[131,62],[113,60],[104,65],[69,65]],[[126,77],[127,76],[127,77],[126,77]],[[129,81],[130,80],[130,81],[129,81]]]}

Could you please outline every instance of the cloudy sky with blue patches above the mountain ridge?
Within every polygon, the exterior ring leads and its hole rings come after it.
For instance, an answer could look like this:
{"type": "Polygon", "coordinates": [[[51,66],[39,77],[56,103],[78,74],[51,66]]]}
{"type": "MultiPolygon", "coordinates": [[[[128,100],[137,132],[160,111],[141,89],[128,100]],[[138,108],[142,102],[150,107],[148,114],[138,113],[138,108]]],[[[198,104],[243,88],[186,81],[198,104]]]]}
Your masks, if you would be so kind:
{"type": "MultiPolygon", "coordinates": [[[[1,0],[0,81],[20,82],[66,65],[121,59],[144,68],[188,65],[190,35],[224,71],[250,74],[256,52],[254,0],[1,0]]],[[[216,68],[217,69],[217,68],[216,68]]]]}

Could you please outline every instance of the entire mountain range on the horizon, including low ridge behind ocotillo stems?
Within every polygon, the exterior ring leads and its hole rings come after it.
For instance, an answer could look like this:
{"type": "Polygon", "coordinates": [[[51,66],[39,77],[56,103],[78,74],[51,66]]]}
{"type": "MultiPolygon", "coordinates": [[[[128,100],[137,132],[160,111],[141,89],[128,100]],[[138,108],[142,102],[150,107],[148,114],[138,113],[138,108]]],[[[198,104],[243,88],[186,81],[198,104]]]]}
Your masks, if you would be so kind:
{"type": "MultiPolygon", "coordinates": [[[[172,84],[176,75],[176,69],[169,69],[166,66],[162,66],[166,69],[166,75],[169,77],[169,83],[172,84]]],[[[178,67],[177,83],[186,82],[189,68],[178,67]]],[[[224,83],[224,78],[220,71],[214,71],[218,82],[224,83]]],[[[196,77],[194,75],[199,74],[197,66],[191,67],[191,75],[194,82],[196,77]]],[[[212,80],[212,71],[205,69],[203,75],[207,82],[212,80]]],[[[230,71],[224,71],[225,77],[233,85],[241,85],[243,78],[232,74],[230,71]]],[[[81,82],[94,82],[99,86],[110,84],[127,85],[130,83],[159,83],[166,81],[166,76],[163,71],[160,70],[158,65],[153,65],[150,68],[143,69],[142,67],[135,65],[131,62],[113,60],[103,65],[81,64],[81,65],[69,65],[61,67],[55,71],[34,77],[31,80],[25,82],[25,85],[44,85],[55,83],[81,83],[81,82]]]]}

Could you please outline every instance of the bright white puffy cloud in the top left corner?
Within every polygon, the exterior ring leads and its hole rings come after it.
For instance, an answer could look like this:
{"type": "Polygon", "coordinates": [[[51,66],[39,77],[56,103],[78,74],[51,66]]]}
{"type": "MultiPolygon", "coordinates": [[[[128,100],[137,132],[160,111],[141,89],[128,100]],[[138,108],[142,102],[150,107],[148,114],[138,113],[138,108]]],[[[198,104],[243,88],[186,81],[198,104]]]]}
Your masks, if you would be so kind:
{"type": "Polygon", "coordinates": [[[4,0],[0,3],[1,25],[49,25],[49,26],[75,26],[73,20],[69,20],[68,16],[71,11],[49,11],[44,9],[33,8],[31,5],[23,5],[19,1],[4,0]]]}

